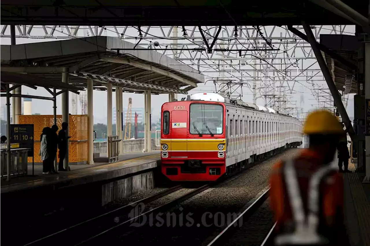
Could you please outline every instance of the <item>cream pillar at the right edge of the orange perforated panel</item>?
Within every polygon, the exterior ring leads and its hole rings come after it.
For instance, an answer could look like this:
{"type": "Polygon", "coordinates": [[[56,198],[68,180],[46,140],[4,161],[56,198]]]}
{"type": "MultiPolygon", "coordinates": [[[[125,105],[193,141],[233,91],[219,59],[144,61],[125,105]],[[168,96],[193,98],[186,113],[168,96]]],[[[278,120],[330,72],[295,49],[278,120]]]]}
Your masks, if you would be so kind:
{"type": "Polygon", "coordinates": [[[94,94],[93,81],[87,79],[87,164],[94,165],[94,94]]]}

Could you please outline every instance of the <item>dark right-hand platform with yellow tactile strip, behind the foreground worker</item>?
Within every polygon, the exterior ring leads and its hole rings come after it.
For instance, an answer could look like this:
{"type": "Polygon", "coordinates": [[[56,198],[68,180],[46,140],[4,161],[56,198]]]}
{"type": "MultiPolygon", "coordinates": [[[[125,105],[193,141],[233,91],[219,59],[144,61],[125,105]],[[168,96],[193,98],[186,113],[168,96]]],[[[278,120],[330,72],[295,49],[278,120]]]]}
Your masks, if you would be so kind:
{"type": "Polygon", "coordinates": [[[344,219],[352,246],[370,245],[370,184],[363,183],[364,173],[354,172],[350,163],[344,177],[344,219]]]}

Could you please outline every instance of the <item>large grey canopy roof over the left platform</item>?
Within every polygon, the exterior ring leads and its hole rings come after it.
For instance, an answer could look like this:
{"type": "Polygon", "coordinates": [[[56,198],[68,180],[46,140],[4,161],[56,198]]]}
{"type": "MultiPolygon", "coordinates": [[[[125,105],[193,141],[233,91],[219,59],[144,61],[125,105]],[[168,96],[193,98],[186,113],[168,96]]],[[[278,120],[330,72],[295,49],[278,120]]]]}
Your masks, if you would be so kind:
{"type": "Polygon", "coordinates": [[[184,93],[204,83],[204,75],[162,52],[117,37],[87,37],[62,41],[0,46],[0,71],[22,72],[61,81],[67,68],[69,83],[105,90],[107,83],[125,92],[184,93]],[[115,49],[121,49],[119,52],[115,49]]]}

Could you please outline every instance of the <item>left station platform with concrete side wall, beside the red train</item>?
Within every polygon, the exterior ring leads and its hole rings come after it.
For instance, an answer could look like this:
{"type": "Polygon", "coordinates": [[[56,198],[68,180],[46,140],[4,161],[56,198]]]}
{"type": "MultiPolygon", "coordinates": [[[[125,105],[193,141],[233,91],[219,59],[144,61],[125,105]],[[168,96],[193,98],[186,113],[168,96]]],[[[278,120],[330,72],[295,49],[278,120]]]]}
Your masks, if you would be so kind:
{"type": "MultiPolygon", "coordinates": [[[[33,211],[32,217],[53,211],[97,209],[137,192],[154,188],[160,175],[160,151],[127,153],[116,163],[71,165],[71,171],[1,180],[4,211],[33,211]]],[[[29,168],[32,168],[29,167],[29,168]]],[[[23,213],[22,213],[23,214],[23,213]]]]}

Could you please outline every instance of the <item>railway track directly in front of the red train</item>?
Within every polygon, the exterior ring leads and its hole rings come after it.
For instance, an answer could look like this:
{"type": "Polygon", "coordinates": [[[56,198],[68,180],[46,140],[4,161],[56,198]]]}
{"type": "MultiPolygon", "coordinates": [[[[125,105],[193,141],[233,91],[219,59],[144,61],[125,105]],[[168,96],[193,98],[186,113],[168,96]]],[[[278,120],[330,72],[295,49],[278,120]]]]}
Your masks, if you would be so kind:
{"type": "MultiPolygon", "coordinates": [[[[184,195],[171,199],[171,201],[166,202],[160,206],[150,209],[147,212],[140,213],[131,218],[127,218],[127,213],[132,211],[135,204],[149,204],[152,201],[158,200],[165,197],[166,195],[172,194],[181,189],[186,189],[182,185],[176,185],[165,189],[164,191],[158,192],[157,194],[151,195],[144,199],[136,202],[132,202],[128,205],[122,206],[120,208],[114,209],[110,212],[104,213],[102,215],[96,216],[94,218],[88,219],[87,221],[78,223],[76,225],[70,226],[51,235],[45,236],[43,238],[34,240],[33,242],[27,243],[24,246],[34,246],[34,245],[86,245],[88,243],[97,243],[100,239],[106,238],[106,236],[115,233],[118,229],[128,227],[132,221],[140,219],[146,216],[148,213],[152,212],[165,212],[166,210],[176,206],[178,203],[185,201],[195,195],[205,191],[210,188],[211,184],[202,185],[201,187],[192,189],[190,192],[186,192],[184,195]],[[121,222],[122,221],[122,222],[121,222]]],[[[142,211],[140,211],[142,212],[142,211]]]]}

